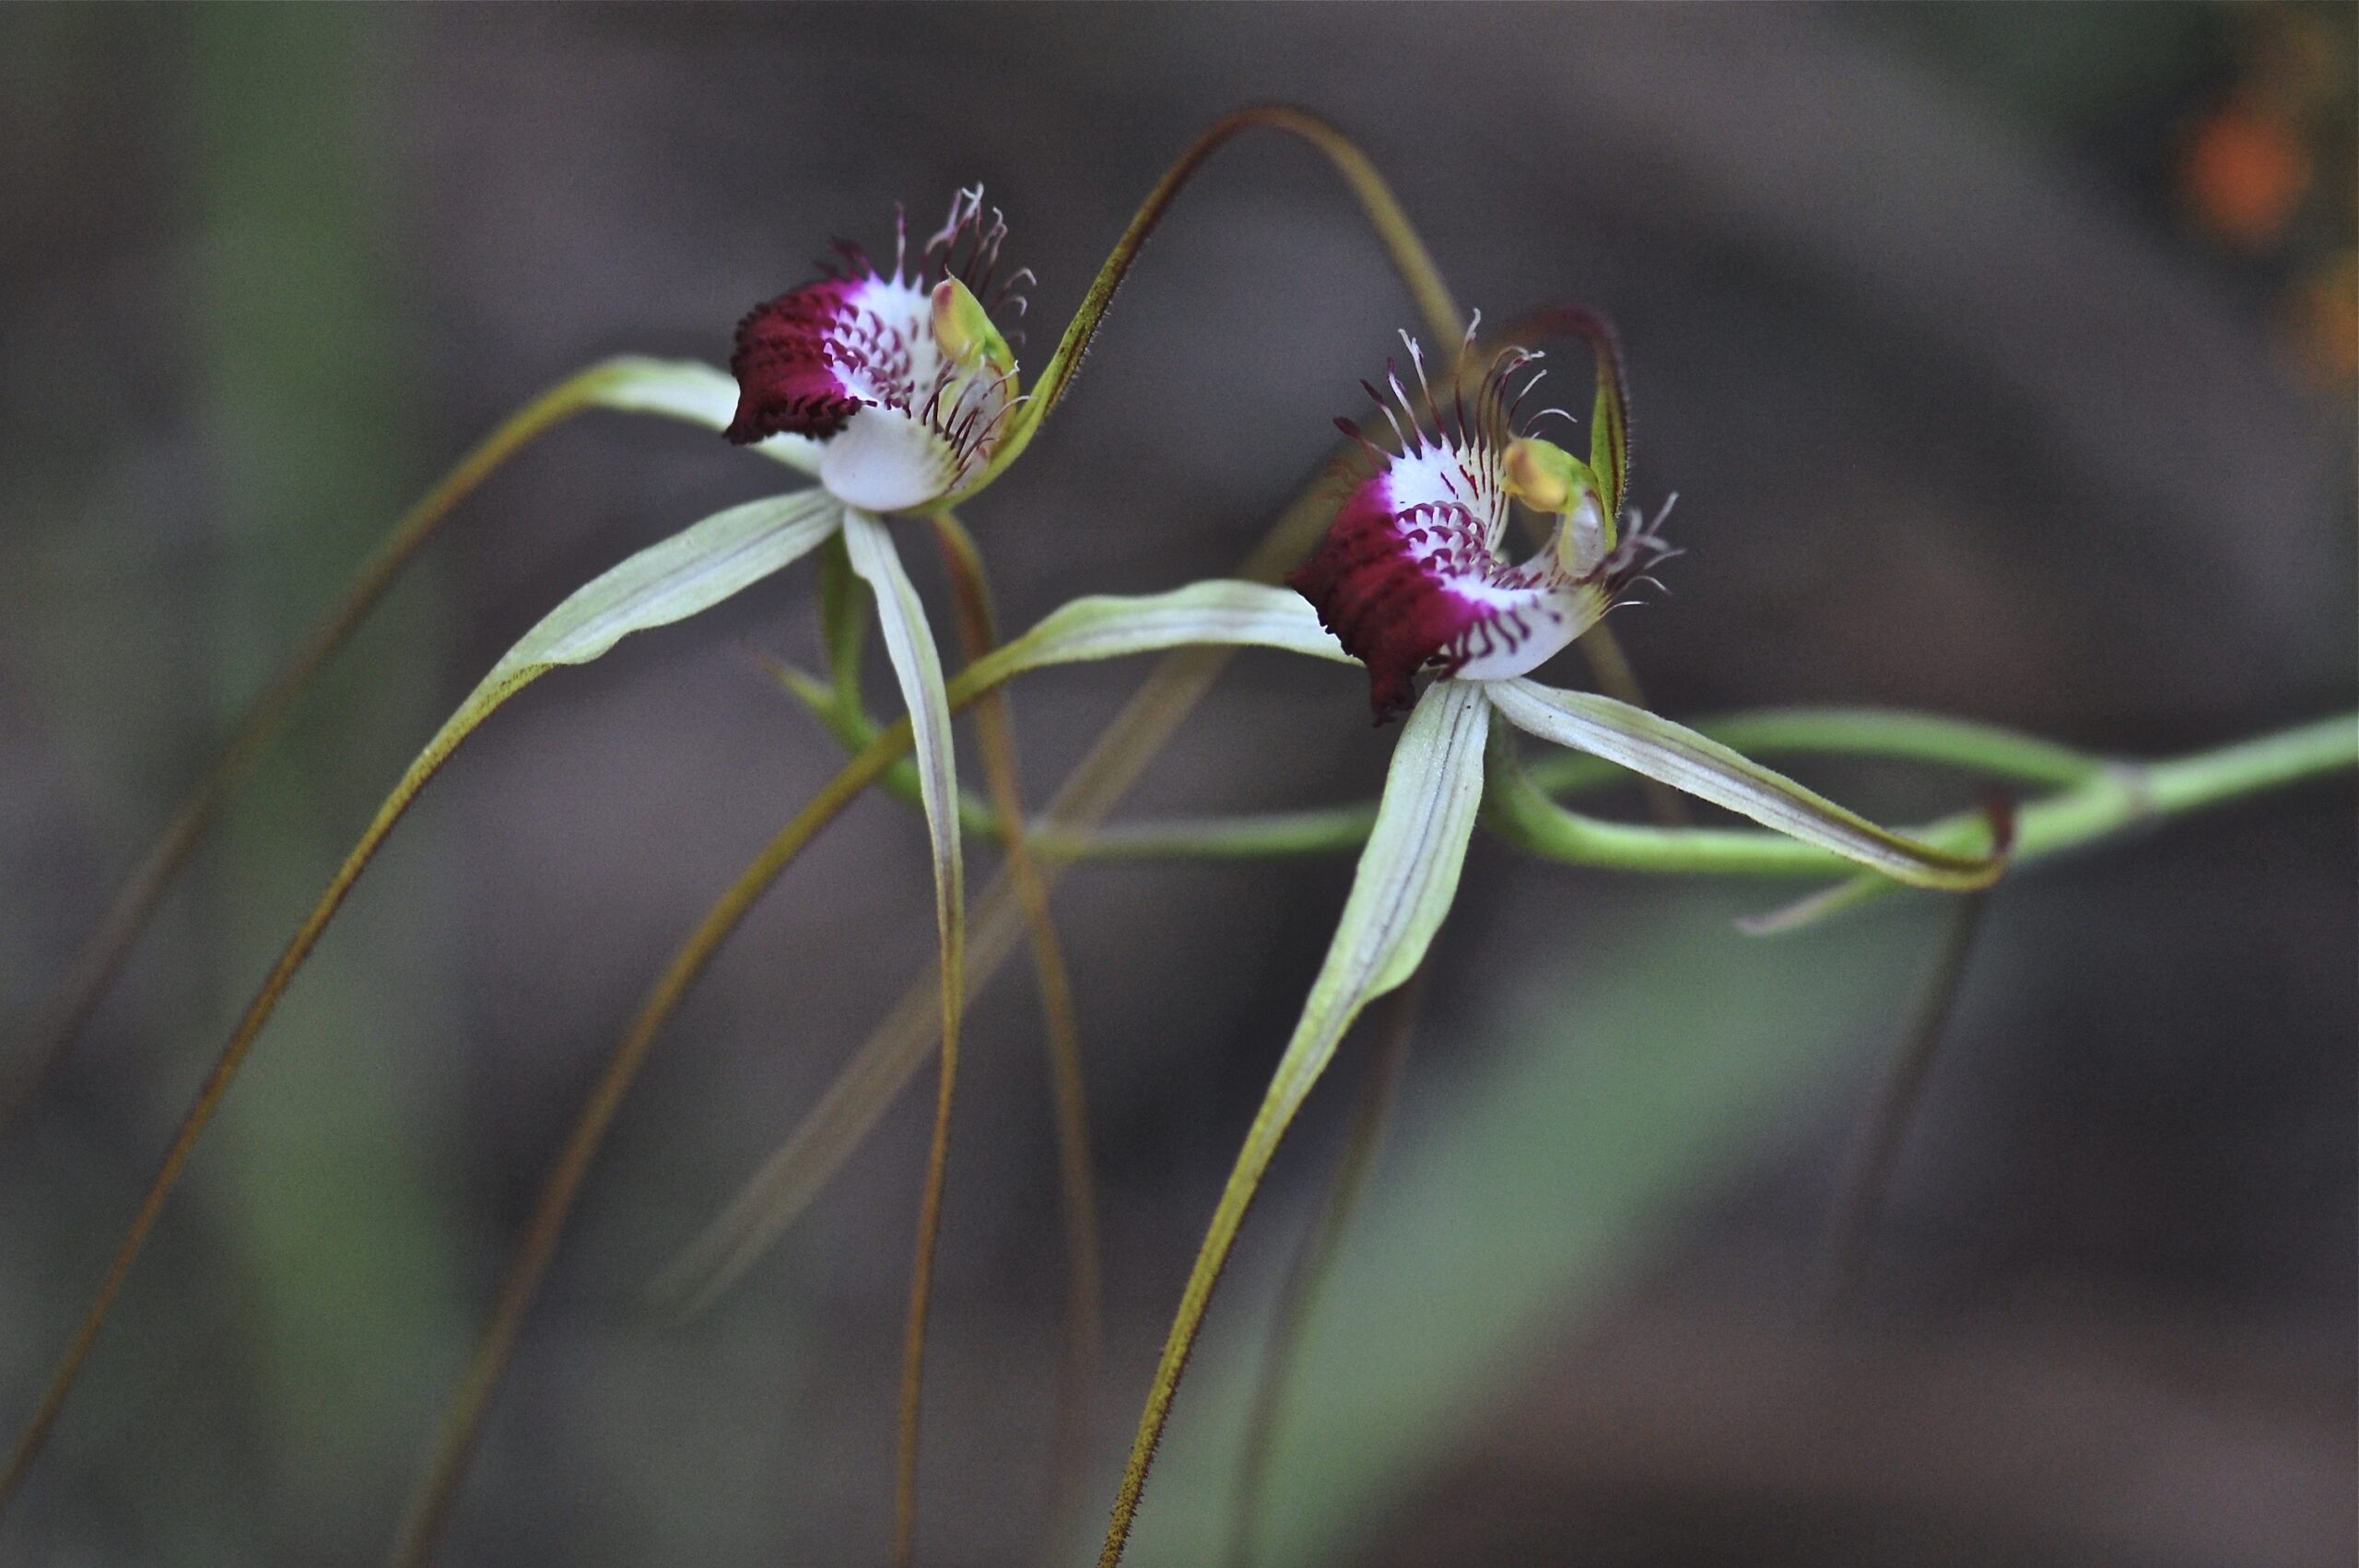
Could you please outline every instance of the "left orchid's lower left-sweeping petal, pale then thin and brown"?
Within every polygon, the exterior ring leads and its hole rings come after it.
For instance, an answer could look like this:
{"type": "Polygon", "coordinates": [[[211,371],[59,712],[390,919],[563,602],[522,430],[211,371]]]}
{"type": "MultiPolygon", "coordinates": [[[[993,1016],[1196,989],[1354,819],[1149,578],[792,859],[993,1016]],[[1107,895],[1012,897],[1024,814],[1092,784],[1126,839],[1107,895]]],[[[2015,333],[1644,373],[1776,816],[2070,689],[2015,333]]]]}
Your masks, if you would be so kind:
{"type": "Polygon", "coordinates": [[[691,528],[684,528],[682,533],[675,533],[661,545],[649,545],[620,566],[576,589],[564,604],[543,615],[540,622],[526,632],[498,665],[491,667],[491,674],[486,674],[477,689],[467,693],[467,700],[460,703],[458,712],[451,714],[434,738],[427,740],[425,750],[418,752],[415,762],[410,762],[392,795],[387,795],[385,804],[377,806],[375,821],[368,823],[361,842],[354,844],[349,856],[344,856],[344,863],[328,882],[328,889],[318,896],[318,903],[311,905],[311,913],[304,915],[295,936],[288,938],[278,962],[271,964],[271,971],[264,976],[255,1000],[238,1019],[238,1028],[231,1033],[229,1045],[222,1047],[212,1070],[205,1075],[205,1082],[182,1118],[179,1132],[172,1137],[172,1146],[163,1158],[163,1167],[149,1184],[146,1198],[142,1198],[139,1212],[132,1217],[132,1224],[125,1231],[123,1243],[118,1245],[116,1257],[73,1335],[73,1342],[66,1346],[40,1405],[35,1405],[33,1417],[19,1434],[7,1469],[0,1471],[0,1504],[5,1504],[14,1493],[24,1471],[31,1467],[33,1455],[40,1452],[42,1441],[47,1441],[50,1427],[57,1422],[59,1410],[64,1410],[66,1394],[73,1389],[73,1379],[80,1372],[83,1361],[90,1356],[90,1346],[97,1342],[99,1327],[106,1323],[116,1292],[123,1287],[132,1261],[146,1245],[149,1231],[156,1226],[156,1217],[163,1212],[165,1198],[179,1181],[179,1172],[186,1165],[189,1153],[196,1148],[196,1139],[219,1108],[222,1096],[229,1092],[229,1082],[245,1061],[248,1049],[252,1049],[255,1035],[259,1035],[262,1026],[269,1023],[271,1012],[278,1007],[278,997],[295,979],[295,971],[302,969],[304,960],[311,955],[321,931],[328,929],[335,910],[344,903],[344,896],[351,894],[354,882],[361,879],[361,872],[368,868],[370,858],[375,858],[377,846],[385,844],[387,835],[418,799],[418,792],[427,788],[427,780],[432,780],[434,773],[451,762],[451,755],[460,747],[460,743],[474,733],[474,729],[481,726],[493,710],[540,679],[545,672],[559,665],[585,665],[632,632],[686,620],[689,615],[753,587],[828,538],[828,533],[837,526],[837,516],[840,505],[833,498],[821,490],[802,490],[795,495],[778,495],[731,507],[729,512],[719,512],[691,528]]]}

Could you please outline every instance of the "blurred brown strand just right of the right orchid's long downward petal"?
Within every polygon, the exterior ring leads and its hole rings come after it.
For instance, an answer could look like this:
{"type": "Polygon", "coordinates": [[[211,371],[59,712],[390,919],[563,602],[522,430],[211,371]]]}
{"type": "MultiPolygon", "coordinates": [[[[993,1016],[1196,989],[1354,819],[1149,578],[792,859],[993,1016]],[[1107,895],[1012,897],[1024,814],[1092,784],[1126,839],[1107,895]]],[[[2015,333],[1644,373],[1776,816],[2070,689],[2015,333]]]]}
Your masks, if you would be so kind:
{"type": "Polygon", "coordinates": [[[1253,1563],[1253,1530],[1262,1516],[1269,1460],[1279,1436],[1279,1408],[1286,1398],[1286,1384],[1293,1377],[1295,1351],[1302,1346],[1302,1335],[1309,1330],[1319,1297],[1326,1292],[1328,1273],[1335,1266],[1335,1254],[1342,1250],[1342,1236],[1352,1224],[1352,1212],[1359,1207],[1359,1195],[1375,1170],[1375,1155],[1385,1141],[1385,1122],[1392,1120],[1392,1106],[1401,1094],[1401,1073],[1408,1066],[1408,1042],[1418,1023],[1418,1009],[1425,1002],[1425,976],[1427,969],[1420,967],[1392,997],[1382,1035],[1368,1061],[1368,1075],[1359,1085],[1359,1101],[1352,1106],[1352,1125],[1345,1129],[1342,1151],[1335,1155],[1335,1170],[1328,1174],[1319,1214],[1312,1217],[1312,1226],[1302,1233],[1302,1245],[1295,1250],[1286,1269],[1286,1283],[1279,1287],[1279,1311],[1269,1325],[1269,1342],[1262,1346],[1262,1375],[1253,1384],[1246,1441],[1238,1448],[1236,1514],[1229,1521],[1229,1568],[1250,1568],[1253,1563]]]}

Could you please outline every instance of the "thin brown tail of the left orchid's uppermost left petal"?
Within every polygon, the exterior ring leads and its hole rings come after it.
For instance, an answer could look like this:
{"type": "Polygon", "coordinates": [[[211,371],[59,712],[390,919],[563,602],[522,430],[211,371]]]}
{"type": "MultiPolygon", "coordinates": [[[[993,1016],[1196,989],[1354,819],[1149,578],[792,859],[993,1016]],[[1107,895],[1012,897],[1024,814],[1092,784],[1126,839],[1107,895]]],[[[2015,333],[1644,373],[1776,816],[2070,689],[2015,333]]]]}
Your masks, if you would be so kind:
{"type": "MultiPolygon", "coordinates": [[[[172,811],[163,832],[132,868],[132,875],[116,889],[97,929],[83,938],[57,990],[26,1028],[24,1047],[17,1052],[12,1070],[0,1080],[0,1129],[17,1118],[73,1037],[90,1023],[90,1014],[123,969],[132,943],[139,941],[156,905],[172,889],[175,877],[179,877],[182,865],[189,863],[189,856],[203,842],[205,830],[222,816],[222,806],[229,804],[231,792],[252,771],[255,762],[262,759],[262,752],[321,665],[359,630],[401,575],[401,568],[434,538],[434,531],[443,526],[458,502],[467,500],[493,469],[526,443],[585,408],[597,408],[602,401],[599,394],[613,377],[613,365],[592,365],[550,387],[484,436],[415,507],[394,521],[394,528],[377,542],[335,604],[321,613],[302,641],[295,644],[295,651],[288,653],[285,663],[255,693],[255,700],[229,733],[229,743],[222,745],[219,757],[215,757],[196,790],[172,811]]],[[[7,1488],[0,1485],[0,1497],[5,1495],[7,1488]]]]}

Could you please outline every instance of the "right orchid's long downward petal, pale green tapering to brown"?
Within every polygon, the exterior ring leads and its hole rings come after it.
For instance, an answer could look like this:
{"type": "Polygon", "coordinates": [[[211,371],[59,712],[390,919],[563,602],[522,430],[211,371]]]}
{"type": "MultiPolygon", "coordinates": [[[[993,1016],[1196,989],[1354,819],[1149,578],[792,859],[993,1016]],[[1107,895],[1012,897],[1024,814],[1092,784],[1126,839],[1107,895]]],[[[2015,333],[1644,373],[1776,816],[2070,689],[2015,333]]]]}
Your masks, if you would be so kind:
{"type": "Polygon", "coordinates": [[[1437,681],[1418,700],[1401,731],[1392,771],[1385,776],[1385,799],[1375,811],[1375,830],[1368,835],[1368,849],[1359,856],[1342,922],[1328,943],[1319,979],[1312,981],[1302,1021],[1295,1023],[1295,1035],[1286,1042],[1262,1108],[1246,1132],[1246,1146],[1236,1155],[1229,1186],[1222,1188],[1220,1207],[1213,1210],[1213,1224],[1196,1252],[1187,1290],[1180,1294],[1180,1313],[1163,1342],[1163,1361],[1156,1365],[1146,1412],[1139,1417],[1130,1464],[1123,1469],[1123,1485],[1113,1500],[1113,1523],[1099,1554],[1102,1568],[1113,1568],[1123,1556],[1130,1521],[1146,1485],[1146,1467],[1163,1438],[1163,1422],[1170,1417],[1180,1372],[1187,1368],[1196,1332],[1203,1327],[1205,1306],[1213,1302],[1213,1285],[1220,1283],[1238,1226],[1246,1221],[1246,1210],[1262,1186],[1262,1172],[1269,1170],[1286,1127],[1295,1120],[1312,1085],[1326,1073],[1359,1009],[1415,971],[1434,931],[1441,929],[1441,917],[1451,910],[1467,837],[1474,832],[1474,813],[1481,804],[1489,714],[1491,703],[1479,684],[1437,681]]]}

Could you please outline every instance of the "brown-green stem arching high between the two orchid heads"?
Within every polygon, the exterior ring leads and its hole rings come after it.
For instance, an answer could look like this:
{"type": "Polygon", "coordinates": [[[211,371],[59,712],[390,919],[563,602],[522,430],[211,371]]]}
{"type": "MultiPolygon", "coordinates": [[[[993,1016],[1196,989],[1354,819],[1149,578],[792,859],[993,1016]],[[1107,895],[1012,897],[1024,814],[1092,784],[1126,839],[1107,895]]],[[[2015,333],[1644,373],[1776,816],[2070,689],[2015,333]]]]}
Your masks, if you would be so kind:
{"type": "Polygon", "coordinates": [[[1170,205],[1180,198],[1180,191],[1196,174],[1205,158],[1217,153],[1229,139],[1246,130],[1279,130],[1290,137],[1307,141],[1316,149],[1352,186],[1352,196],[1359,198],[1361,212],[1368,217],[1368,226],[1375,229],[1378,238],[1385,243],[1385,252],[1392,257],[1394,271],[1401,274],[1401,283],[1408,285],[1411,297],[1418,304],[1418,316],[1441,342],[1458,342],[1465,330],[1458,304],[1451,299],[1448,285],[1441,281],[1441,271],[1434,266],[1434,257],[1425,250],[1425,241],[1408,224],[1408,215],[1401,210],[1401,200],[1378,174],[1368,156],[1359,151],[1352,137],[1342,134],[1319,116],[1295,108],[1290,104],[1248,104],[1236,113],[1215,120],[1196,141],[1187,146],[1180,158],[1163,170],[1163,179],[1156,189],[1146,193],[1139,210],[1132,215],[1130,226],[1123,229],[1123,238],[1113,243],[1113,252],[1106,264],[1097,269],[1097,278],[1090,283],[1090,292],[1080,297],[1080,309],[1073,311],[1071,325],[1066,325],[1064,337],[1057,342],[1057,351],[1050,356],[1047,368],[1040,370],[1040,380],[1033,384],[1031,394],[1017,408],[1010,420],[1007,434],[1000,439],[998,450],[991,462],[977,474],[965,488],[953,493],[941,505],[955,507],[984,486],[1007,472],[1026,446],[1031,446],[1033,434],[1040,422],[1057,408],[1064,389],[1073,384],[1080,373],[1080,361],[1090,349],[1090,340],[1097,337],[1097,328],[1106,318],[1106,307],[1113,304],[1113,295],[1123,288],[1123,278],[1130,276],[1132,264],[1139,259],[1139,248],[1146,245],[1146,236],[1156,231],[1170,205]]]}

